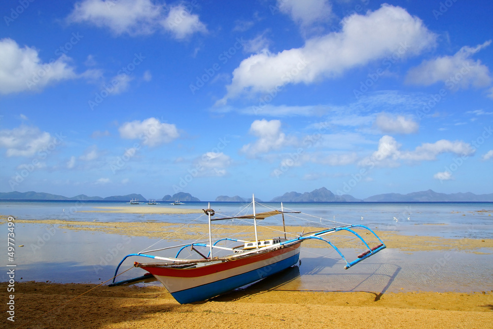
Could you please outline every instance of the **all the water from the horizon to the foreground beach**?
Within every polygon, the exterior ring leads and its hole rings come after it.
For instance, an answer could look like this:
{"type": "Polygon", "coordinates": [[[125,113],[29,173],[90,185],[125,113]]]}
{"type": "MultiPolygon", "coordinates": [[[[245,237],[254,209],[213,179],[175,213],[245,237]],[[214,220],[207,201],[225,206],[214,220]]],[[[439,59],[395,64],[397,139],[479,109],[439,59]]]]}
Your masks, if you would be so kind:
{"type": "MultiPolygon", "coordinates": [[[[211,208],[216,215],[233,216],[248,208],[244,202],[169,202],[149,207],[211,208]]],[[[262,203],[267,210],[281,209],[281,203],[262,203]]],[[[147,205],[146,205],[147,206],[147,205]]],[[[0,200],[0,214],[15,219],[39,220],[14,226],[14,257],[0,257],[0,267],[16,265],[15,280],[53,283],[102,283],[114,276],[114,270],[127,254],[145,250],[159,239],[133,237],[86,230],[71,230],[42,223],[45,219],[99,222],[168,222],[177,225],[207,223],[200,214],[125,214],[85,212],[100,207],[133,207],[123,201],[39,201],[0,200]],[[23,247],[19,247],[23,246],[23,247]]],[[[492,202],[283,202],[283,209],[301,211],[309,217],[290,216],[289,226],[363,224],[377,231],[403,236],[429,236],[447,239],[492,239],[492,202]],[[307,223],[308,220],[308,223],[307,223]]],[[[251,209],[250,209],[251,210],[251,209]]],[[[257,212],[266,211],[259,210],[257,212]]],[[[279,225],[276,217],[263,225],[279,225]]],[[[14,220],[15,221],[15,220],[14,220]]],[[[0,244],[7,246],[12,226],[0,224],[0,244]]],[[[385,242],[385,241],[384,241],[385,242]]],[[[176,244],[176,242],[175,242],[176,244]]],[[[2,248],[3,250],[3,248],[2,248]]],[[[344,249],[342,249],[344,254],[344,249]]],[[[306,248],[301,263],[279,275],[241,289],[296,291],[385,292],[482,292],[493,291],[493,250],[406,251],[387,248],[345,270],[345,262],[331,248],[306,248]]],[[[132,260],[122,269],[131,267],[132,260]]],[[[130,270],[118,279],[142,275],[130,270]]],[[[8,281],[6,270],[0,281],[8,281]]],[[[138,285],[160,285],[146,280],[138,285]]]]}

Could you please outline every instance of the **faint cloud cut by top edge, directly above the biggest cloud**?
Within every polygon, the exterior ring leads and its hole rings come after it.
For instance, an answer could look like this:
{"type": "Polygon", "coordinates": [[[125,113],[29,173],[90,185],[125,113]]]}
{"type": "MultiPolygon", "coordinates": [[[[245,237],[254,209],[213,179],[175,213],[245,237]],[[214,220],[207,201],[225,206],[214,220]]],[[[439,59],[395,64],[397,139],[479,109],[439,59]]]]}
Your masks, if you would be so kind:
{"type": "Polygon", "coordinates": [[[302,27],[326,21],[332,12],[328,0],[278,0],[279,10],[302,27]]]}

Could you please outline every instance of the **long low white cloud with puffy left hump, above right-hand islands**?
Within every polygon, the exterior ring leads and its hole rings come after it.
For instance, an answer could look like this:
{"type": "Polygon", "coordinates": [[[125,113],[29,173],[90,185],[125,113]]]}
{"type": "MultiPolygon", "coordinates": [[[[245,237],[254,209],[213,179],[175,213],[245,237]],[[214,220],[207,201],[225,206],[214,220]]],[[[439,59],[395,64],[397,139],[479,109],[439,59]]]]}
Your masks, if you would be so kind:
{"type": "Polygon", "coordinates": [[[397,143],[391,136],[383,136],[378,144],[377,151],[371,156],[359,162],[360,166],[396,167],[400,160],[406,161],[432,161],[442,153],[453,153],[456,155],[472,155],[474,147],[462,141],[440,140],[435,143],[423,143],[414,150],[401,150],[401,144],[397,143]]]}

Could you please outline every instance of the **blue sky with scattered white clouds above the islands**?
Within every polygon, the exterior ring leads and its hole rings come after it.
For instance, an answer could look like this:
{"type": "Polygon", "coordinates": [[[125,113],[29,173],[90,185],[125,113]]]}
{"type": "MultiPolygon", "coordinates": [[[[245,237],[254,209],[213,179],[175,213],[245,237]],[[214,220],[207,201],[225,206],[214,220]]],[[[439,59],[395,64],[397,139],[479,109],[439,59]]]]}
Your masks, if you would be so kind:
{"type": "Polygon", "coordinates": [[[0,2],[0,190],[493,192],[492,1],[0,2]]]}

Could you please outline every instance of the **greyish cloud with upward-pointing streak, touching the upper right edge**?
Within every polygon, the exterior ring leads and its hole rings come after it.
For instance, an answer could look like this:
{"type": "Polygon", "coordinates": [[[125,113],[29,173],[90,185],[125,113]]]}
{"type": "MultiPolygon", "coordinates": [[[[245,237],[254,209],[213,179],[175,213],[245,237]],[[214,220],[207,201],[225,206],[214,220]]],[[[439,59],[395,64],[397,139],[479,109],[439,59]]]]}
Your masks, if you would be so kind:
{"type": "Polygon", "coordinates": [[[464,46],[454,56],[423,61],[419,66],[409,70],[405,81],[425,86],[442,81],[452,90],[466,89],[469,86],[489,86],[492,77],[488,67],[482,65],[480,60],[474,61],[470,57],[489,46],[491,42],[488,40],[475,48],[464,46]]]}

